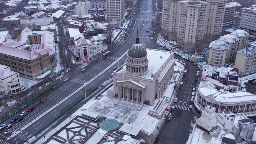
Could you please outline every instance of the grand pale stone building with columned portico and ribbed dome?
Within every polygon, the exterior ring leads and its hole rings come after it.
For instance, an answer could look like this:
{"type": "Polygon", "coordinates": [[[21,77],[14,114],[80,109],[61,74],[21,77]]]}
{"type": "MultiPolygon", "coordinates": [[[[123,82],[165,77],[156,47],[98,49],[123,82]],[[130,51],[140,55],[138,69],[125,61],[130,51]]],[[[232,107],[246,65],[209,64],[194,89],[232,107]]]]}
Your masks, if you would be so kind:
{"type": "Polygon", "coordinates": [[[146,49],[137,34],[125,64],[113,73],[115,104],[137,110],[144,104],[152,105],[167,88],[173,69],[173,52],[146,49]]]}

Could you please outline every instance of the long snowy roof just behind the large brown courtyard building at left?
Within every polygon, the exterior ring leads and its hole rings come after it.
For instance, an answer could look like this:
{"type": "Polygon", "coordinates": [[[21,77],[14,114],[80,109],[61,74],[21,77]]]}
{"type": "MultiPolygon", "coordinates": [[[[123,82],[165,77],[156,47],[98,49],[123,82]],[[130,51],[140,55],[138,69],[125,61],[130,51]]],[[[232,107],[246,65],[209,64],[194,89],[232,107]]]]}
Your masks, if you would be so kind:
{"type": "Polygon", "coordinates": [[[53,18],[33,18],[33,19],[21,19],[21,24],[30,24],[35,23],[36,25],[49,25],[51,22],[54,22],[53,18]]]}

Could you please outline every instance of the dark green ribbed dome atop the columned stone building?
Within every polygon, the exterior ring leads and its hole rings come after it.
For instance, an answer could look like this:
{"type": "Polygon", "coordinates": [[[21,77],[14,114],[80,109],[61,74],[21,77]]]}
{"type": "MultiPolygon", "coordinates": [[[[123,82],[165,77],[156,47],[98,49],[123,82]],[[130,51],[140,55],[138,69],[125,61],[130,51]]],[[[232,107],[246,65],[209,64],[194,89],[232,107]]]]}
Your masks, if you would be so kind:
{"type": "Polygon", "coordinates": [[[128,56],[132,58],[143,58],[147,56],[147,50],[142,44],[134,43],[128,50],[128,56]]]}

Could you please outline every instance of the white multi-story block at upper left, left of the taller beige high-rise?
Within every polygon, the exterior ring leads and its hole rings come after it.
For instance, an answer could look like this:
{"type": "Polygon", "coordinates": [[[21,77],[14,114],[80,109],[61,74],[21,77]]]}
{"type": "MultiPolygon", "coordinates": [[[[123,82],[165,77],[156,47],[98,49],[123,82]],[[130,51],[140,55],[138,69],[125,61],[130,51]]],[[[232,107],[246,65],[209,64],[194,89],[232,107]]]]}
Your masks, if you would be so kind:
{"type": "Polygon", "coordinates": [[[75,15],[81,17],[82,15],[88,15],[88,10],[90,9],[90,1],[79,2],[75,7],[75,15]]]}

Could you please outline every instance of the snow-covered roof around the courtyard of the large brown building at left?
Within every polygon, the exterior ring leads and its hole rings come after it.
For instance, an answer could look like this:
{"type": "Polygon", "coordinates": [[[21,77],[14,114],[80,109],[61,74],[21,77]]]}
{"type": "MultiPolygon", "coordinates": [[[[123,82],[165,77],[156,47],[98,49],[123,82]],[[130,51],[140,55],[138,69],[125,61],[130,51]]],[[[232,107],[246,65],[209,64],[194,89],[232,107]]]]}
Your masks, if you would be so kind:
{"type": "Polygon", "coordinates": [[[40,55],[53,55],[55,53],[54,34],[49,31],[30,31],[22,33],[18,36],[17,42],[9,40],[7,42],[1,43],[0,53],[29,61],[38,58],[40,55]],[[28,51],[17,48],[19,46],[25,45],[27,43],[28,36],[32,35],[33,33],[42,34],[40,49],[28,51]]]}

